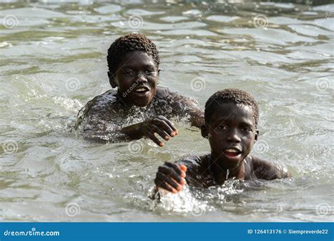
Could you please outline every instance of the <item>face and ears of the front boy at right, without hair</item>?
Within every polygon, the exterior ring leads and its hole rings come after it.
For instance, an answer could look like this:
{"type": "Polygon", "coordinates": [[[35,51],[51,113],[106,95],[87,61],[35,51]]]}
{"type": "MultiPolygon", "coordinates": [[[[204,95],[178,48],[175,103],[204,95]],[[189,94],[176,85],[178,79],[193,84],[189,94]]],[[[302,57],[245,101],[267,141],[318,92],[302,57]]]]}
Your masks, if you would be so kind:
{"type": "Polygon", "coordinates": [[[216,163],[225,167],[237,165],[249,154],[259,135],[252,107],[234,103],[218,104],[209,124],[202,128],[202,135],[209,135],[216,163]]]}

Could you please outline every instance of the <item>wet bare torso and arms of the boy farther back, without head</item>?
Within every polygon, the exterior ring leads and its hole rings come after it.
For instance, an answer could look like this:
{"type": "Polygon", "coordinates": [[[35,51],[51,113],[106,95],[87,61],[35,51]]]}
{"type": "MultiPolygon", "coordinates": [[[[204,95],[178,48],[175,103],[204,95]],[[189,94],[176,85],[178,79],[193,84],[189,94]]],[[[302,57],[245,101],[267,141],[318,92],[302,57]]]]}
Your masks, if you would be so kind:
{"type": "Polygon", "coordinates": [[[162,146],[162,142],[156,140],[151,131],[159,132],[164,140],[170,136],[161,128],[171,128],[170,133],[178,134],[168,121],[171,118],[175,121],[188,120],[197,128],[204,123],[204,113],[196,101],[168,88],[158,87],[151,102],[144,107],[128,106],[111,89],[94,97],[79,111],[75,129],[80,130],[86,140],[94,142],[124,142],[151,135],[151,139],[162,146]]]}

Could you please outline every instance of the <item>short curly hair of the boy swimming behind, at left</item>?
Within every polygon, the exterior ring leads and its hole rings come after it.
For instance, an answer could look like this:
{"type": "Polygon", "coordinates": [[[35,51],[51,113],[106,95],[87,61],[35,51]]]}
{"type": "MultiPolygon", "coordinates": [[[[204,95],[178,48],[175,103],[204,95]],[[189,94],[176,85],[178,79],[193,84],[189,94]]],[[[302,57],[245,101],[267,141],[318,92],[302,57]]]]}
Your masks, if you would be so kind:
{"type": "Polygon", "coordinates": [[[148,39],[145,35],[135,33],[119,37],[109,47],[108,56],[106,56],[109,72],[115,75],[122,57],[128,54],[128,52],[136,50],[145,51],[151,55],[156,68],[159,68],[160,58],[156,44],[151,42],[151,39],[148,39]]]}

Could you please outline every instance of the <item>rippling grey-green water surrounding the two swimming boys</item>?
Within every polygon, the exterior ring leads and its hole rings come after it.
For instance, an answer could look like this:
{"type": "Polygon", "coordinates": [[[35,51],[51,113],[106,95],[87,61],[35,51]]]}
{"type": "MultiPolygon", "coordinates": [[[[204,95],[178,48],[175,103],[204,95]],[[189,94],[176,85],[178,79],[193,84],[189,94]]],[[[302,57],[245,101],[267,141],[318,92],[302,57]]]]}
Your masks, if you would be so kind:
{"type": "Polygon", "coordinates": [[[334,4],[296,2],[1,1],[1,219],[333,221],[334,4]],[[202,107],[218,89],[254,94],[253,154],[294,178],[230,180],[152,202],[159,165],[209,151],[198,131],[178,123],[163,148],[73,132],[79,109],[110,88],[106,50],[128,32],[159,47],[160,85],[202,107]]]}

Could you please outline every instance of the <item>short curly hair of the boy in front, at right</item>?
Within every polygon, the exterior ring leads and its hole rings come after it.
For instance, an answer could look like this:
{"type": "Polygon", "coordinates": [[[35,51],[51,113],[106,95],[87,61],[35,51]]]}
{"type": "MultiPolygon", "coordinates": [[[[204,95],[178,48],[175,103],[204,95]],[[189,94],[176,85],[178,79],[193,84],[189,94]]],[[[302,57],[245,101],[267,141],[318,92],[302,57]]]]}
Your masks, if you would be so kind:
{"type": "Polygon", "coordinates": [[[251,94],[241,89],[223,89],[211,95],[206,101],[204,119],[209,124],[211,114],[214,112],[216,106],[221,103],[245,104],[250,106],[253,110],[253,117],[255,120],[255,127],[259,123],[259,104],[257,104],[251,94]]]}

